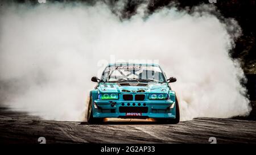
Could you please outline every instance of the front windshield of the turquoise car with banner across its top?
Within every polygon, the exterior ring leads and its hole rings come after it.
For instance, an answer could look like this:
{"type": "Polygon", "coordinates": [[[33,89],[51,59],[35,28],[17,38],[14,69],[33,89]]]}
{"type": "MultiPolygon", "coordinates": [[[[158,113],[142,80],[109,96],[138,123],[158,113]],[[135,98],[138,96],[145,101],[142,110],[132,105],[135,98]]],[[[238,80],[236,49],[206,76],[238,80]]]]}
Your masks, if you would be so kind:
{"type": "Polygon", "coordinates": [[[102,73],[102,82],[166,82],[158,66],[109,66],[102,73]]]}

